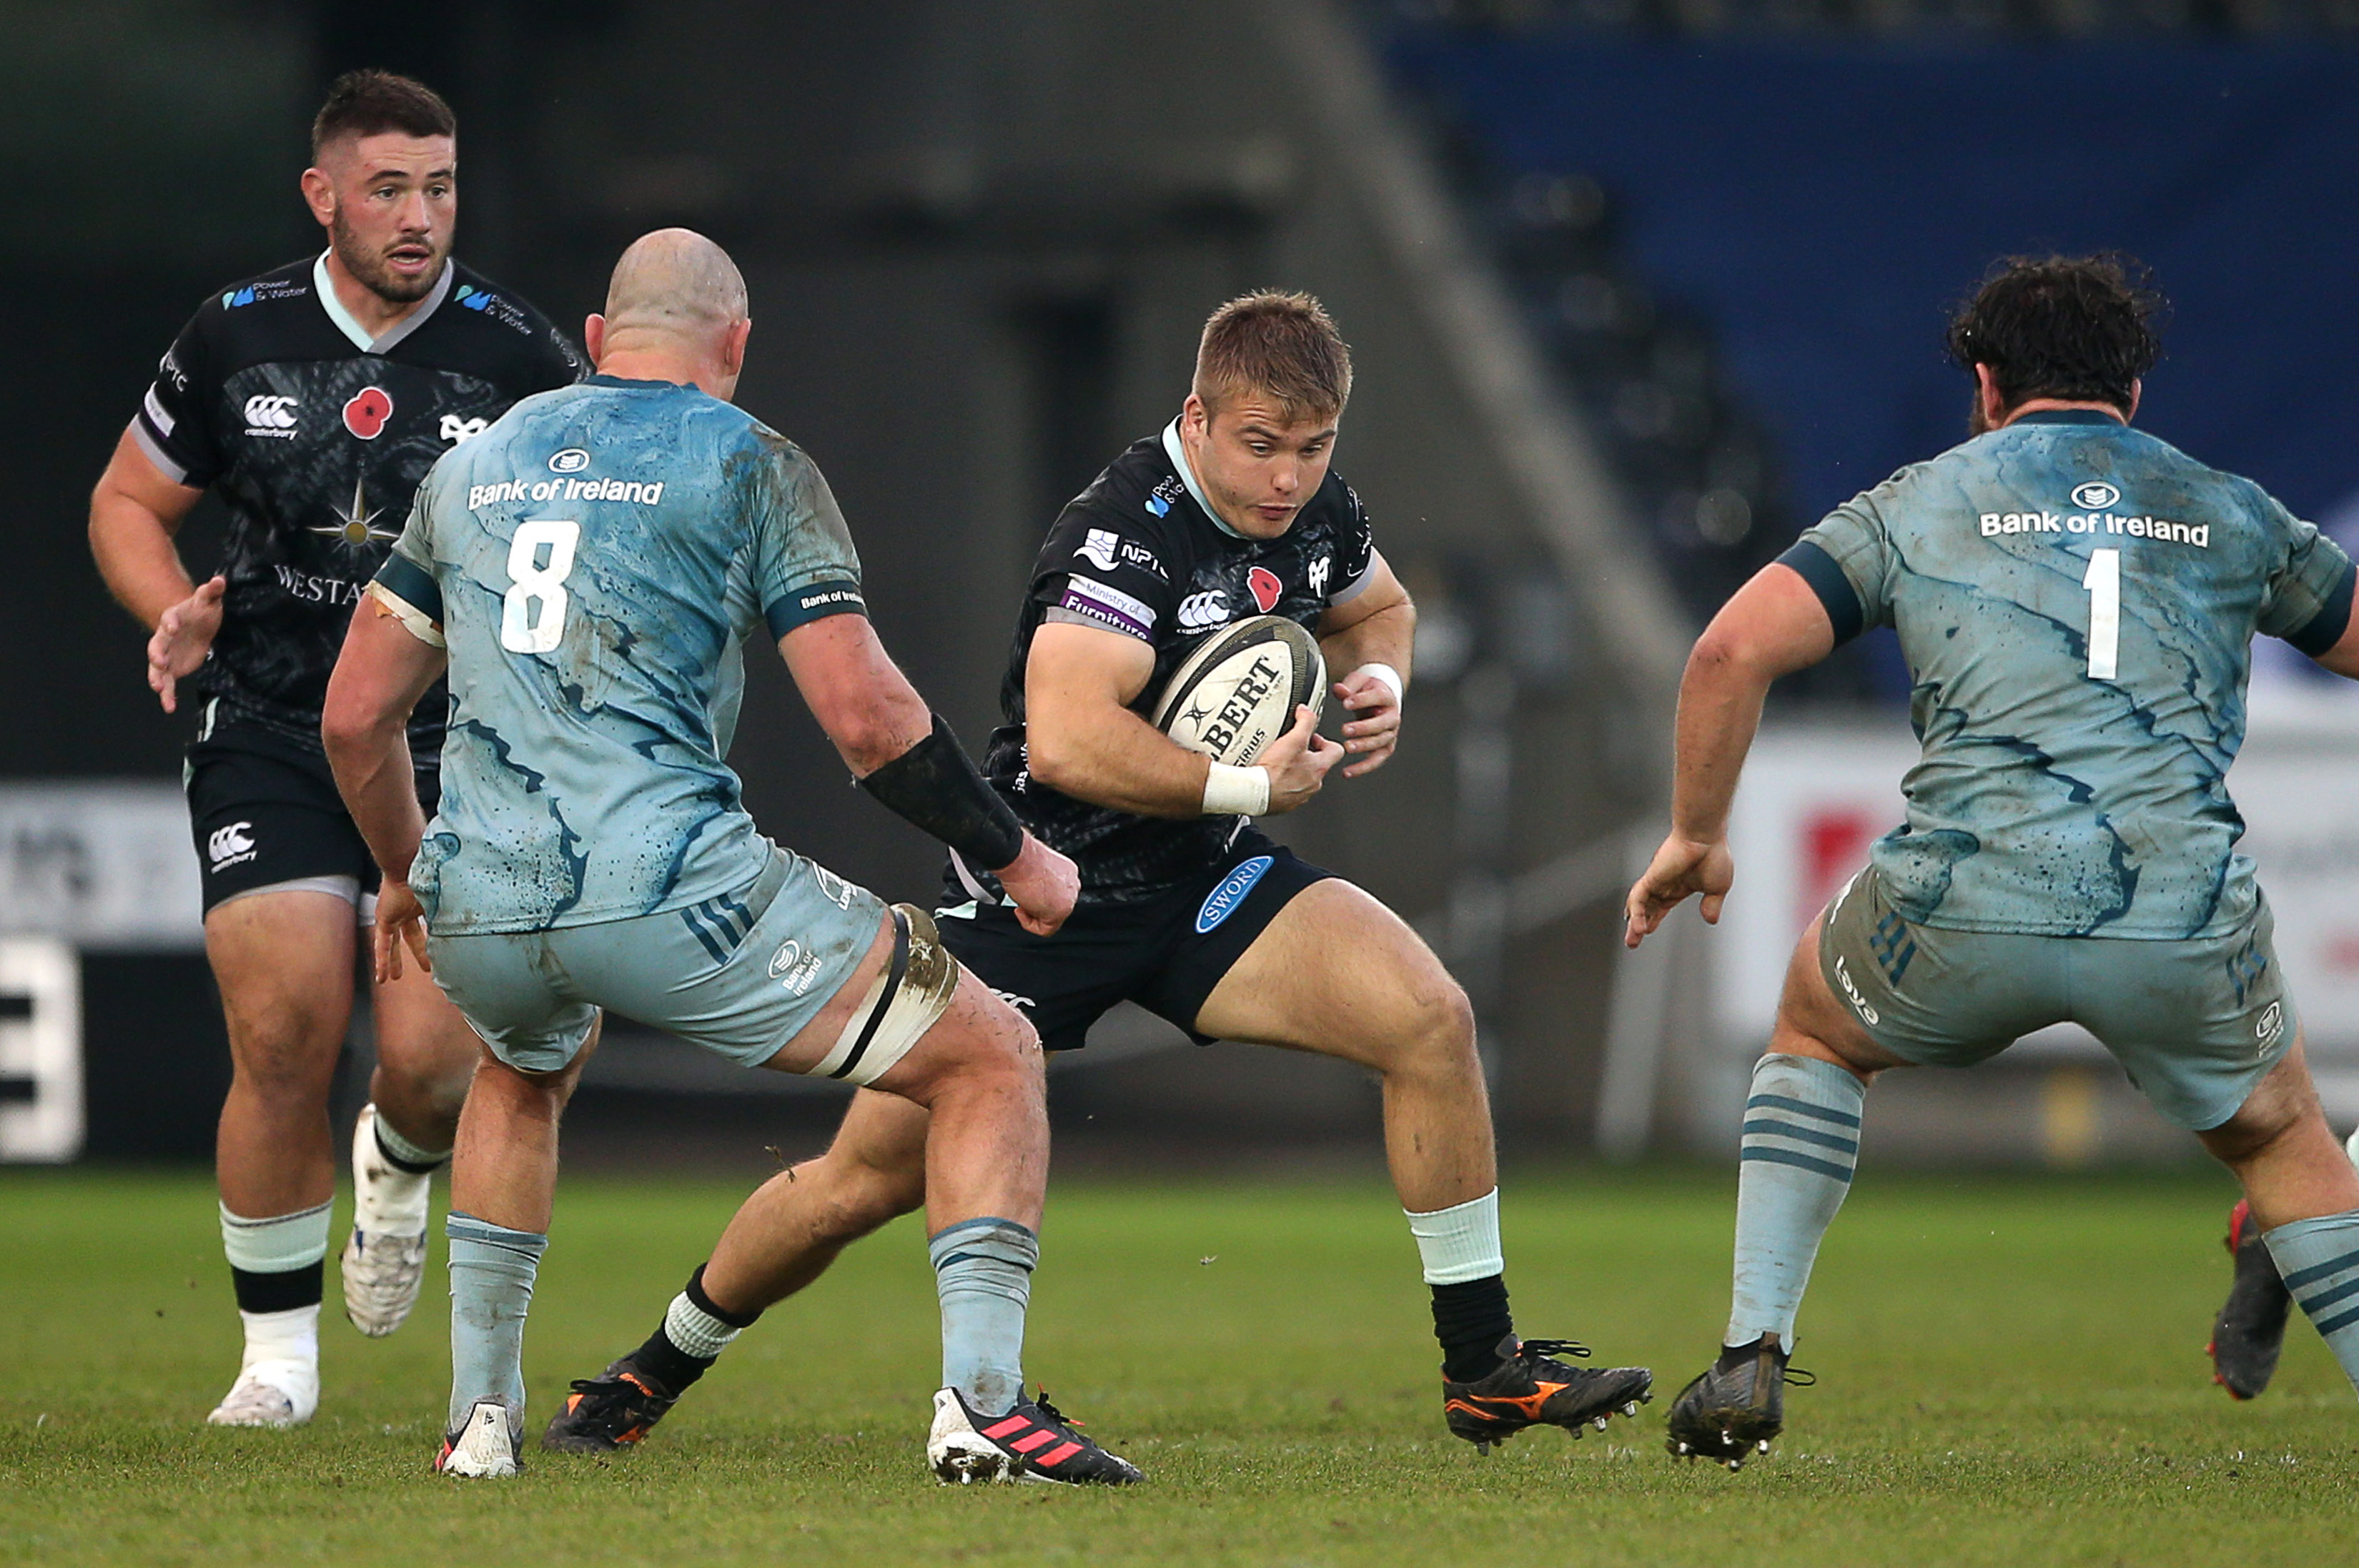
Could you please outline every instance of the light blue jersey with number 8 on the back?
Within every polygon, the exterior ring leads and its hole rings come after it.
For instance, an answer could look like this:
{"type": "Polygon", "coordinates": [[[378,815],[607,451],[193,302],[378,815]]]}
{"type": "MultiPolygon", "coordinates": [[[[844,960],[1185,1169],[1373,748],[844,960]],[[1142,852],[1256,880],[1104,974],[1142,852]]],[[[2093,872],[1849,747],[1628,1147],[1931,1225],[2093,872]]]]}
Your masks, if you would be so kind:
{"type": "Polygon", "coordinates": [[[863,613],[802,450],[670,382],[543,391],[418,488],[377,582],[441,622],[441,811],[410,870],[436,936],[734,891],[762,837],[722,764],[741,646],[863,613]]]}

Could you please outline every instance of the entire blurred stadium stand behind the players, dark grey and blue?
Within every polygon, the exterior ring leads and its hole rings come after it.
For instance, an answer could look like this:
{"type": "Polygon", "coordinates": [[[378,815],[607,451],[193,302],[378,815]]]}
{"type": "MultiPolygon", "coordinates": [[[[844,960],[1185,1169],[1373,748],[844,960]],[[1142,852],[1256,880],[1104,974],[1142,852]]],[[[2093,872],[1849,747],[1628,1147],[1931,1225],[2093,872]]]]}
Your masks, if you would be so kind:
{"type": "MultiPolygon", "coordinates": [[[[1361,368],[1340,467],[1425,625],[1401,757],[1281,830],[1467,981],[1510,1153],[1727,1141],[1715,1073],[1755,1042],[1713,1033],[1698,929],[1635,964],[1614,943],[1670,681],[1802,523],[1958,439],[1941,304],[1991,255],[2144,255],[2180,302],[2149,424],[2359,523],[2359,297],[2328,283],[2359,271],[2359,0],[5,14],[28,186],[0,285],[35,373],[0,391],[28,519],[0,615],[38,655],[0,686],[0,790],[177,778],[186,726],[90,566],[87,486],[193,302],[316,248],[309,113],[335,71],[387,64],[465,120],[460,252],[557,321],[644,229],[738,255],[743,401],[826,467],[887,644],[970,745],[1040,531],[1170,417],[1203,314],[1321,292],[1361,368]]],[[[191,561],[215,528],[208,505],[191,561]]],[[[934,851],[760,674],[734,757],[757,818],[925,896],[934,851]]],[[[1781,705],[1890,726],[1904,684],[1866,639],[1781,705]]],[[[94,943],[83,983],[90,1153],[201,1158],[226,1082],[201,957],[94,943]]],[[[2111,1080],[2057,1101],[2048,1066],[2022,1073],[1979,1101],[1911,1087],[1894,1103],[1934,1099],[1892,1120],[1925,1158],[2149,1148],[2111,1080]]],[[[623,1035],[573,1132],[743,1162],[830,1118],[826,1089],[623,1035]]],[[[1144,1014],[1059,1066],[1057,1120],[1078,1158],[1375,1155],[1359,1075],[1184,1049],[1144,1014]]]]}

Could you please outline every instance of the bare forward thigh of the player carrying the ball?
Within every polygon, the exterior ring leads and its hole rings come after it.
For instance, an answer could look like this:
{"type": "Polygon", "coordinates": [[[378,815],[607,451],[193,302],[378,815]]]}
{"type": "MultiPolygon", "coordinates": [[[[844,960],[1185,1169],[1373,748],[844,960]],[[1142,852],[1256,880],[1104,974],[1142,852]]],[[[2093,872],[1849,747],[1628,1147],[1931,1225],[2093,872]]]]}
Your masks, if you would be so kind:
{"type": "Polygon", "coordinates": [[[1213,986],[1196,1030],[1385,1068],[1420,1045],[1472,1047],[1465,990],[1373,894],[1326,877],[1295,894],[1213,986]]]}

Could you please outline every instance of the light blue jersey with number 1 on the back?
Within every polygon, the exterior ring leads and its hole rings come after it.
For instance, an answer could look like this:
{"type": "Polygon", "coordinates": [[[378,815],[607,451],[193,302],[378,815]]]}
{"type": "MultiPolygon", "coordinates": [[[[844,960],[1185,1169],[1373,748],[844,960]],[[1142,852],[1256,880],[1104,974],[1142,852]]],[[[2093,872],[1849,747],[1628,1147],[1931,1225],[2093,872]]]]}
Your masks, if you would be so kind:
{"type": "Polygon", "coordinates": [[[2255,908],[2227,769],[2250,641],[2324,653],[2352,564],[2260,486],[2102,413],[1901,469],[1783,556],[1838,641],[1890,625],[1923,762],[1875,842],[1904,917],[2187,938],[2255,908]]]}

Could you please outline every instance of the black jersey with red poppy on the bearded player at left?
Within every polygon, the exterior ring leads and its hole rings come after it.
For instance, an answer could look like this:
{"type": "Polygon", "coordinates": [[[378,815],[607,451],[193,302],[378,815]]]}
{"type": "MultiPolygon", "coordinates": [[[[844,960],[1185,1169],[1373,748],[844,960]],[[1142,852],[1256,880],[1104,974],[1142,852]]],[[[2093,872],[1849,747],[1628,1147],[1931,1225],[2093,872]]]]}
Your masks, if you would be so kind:
{"type": "MultiPolygon", "coordinates": [[[[167,479],[229,505],[222,630],[193,677],[215,698],[205,736],[318,755],[351,606],[418,481],[517,398],[580,375],[540,311],[458,262],[377,340],[330,290],[326,257],[205,299],[132,420],[167,479]]],[[[410,717],[420,769],[441,759],[446,714],[436,684],[410,717]]]]}

